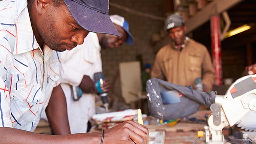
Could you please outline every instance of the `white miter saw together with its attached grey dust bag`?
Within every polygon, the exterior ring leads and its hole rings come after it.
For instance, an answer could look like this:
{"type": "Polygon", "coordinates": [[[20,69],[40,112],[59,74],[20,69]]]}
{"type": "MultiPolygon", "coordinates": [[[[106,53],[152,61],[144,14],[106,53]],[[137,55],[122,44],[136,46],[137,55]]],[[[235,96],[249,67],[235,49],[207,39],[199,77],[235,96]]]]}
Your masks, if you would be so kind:
{"type": "MultiPolygon", "coordinates": [[[[147,82],[147,96],[151,115],[161,119],[189,116],[198,110],[200,104],[209,107],[212,114],[203,132],[206,144],[224,144],[226,141],[256,144],[256,75],[236,80],[225,95],[205,93],[154,78],[147,82]],[[170,91],[177,91],[180,100],[163,103],[170,91]],[[226,140],[222,134],[225,126],[233,126],[226,140]]],[[[169,97],[177,96],[172,92],[169,97]]]]}

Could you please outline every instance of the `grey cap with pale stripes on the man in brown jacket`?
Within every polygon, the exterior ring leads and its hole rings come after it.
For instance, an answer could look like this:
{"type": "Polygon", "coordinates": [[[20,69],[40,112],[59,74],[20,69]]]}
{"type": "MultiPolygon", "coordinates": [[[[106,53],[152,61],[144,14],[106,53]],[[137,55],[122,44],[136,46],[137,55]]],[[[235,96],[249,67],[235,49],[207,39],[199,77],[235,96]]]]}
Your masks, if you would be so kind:
{"type": "Polygon", "coordinates": [[[179,14],[169,15],[165,20],[165,30],[185,25],[185,20],[179,14]]]}

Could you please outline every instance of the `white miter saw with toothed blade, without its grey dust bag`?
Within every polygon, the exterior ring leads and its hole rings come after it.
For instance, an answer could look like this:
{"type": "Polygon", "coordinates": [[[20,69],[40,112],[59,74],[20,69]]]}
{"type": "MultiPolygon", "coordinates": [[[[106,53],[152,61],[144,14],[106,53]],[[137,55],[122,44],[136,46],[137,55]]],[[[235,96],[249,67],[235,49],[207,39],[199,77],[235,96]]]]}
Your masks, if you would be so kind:
{"type": "Polygon", "coordinates": [[[207,144],[224,144],[222,129],[233,125],[242,131],[233,128],[229,142],[256,143],[256,75],[242,77],[230,86],[224,96],[216,95],[210,109],[209,126],[204,127],[207,144]]]}

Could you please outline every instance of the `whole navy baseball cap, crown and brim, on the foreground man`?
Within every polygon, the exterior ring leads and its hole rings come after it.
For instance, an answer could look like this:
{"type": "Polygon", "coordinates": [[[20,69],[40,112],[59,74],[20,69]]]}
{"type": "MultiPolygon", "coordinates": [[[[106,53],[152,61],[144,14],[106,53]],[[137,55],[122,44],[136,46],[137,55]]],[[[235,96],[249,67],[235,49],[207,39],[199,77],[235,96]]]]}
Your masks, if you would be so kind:
{"type": "Polygon", "coordinates": [[[76,22],[84,29],[120,37],[108,10],[108,0],[64,0],[76,22]]]}

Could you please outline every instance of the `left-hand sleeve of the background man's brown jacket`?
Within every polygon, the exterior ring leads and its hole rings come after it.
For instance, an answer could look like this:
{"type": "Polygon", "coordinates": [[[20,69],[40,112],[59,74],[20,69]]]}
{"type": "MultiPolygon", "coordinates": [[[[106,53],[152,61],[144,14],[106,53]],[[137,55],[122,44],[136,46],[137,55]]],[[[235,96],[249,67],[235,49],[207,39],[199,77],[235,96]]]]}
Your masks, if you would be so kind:
{"type": "Polygon", "coordinates": [[[151,78],[158,78],[161,80],[165,80],[165,76],[162,72],[162,68],[160,65],[159,53],[156,55],[154,65],[151,70],[151,78]]]}

